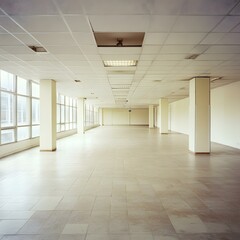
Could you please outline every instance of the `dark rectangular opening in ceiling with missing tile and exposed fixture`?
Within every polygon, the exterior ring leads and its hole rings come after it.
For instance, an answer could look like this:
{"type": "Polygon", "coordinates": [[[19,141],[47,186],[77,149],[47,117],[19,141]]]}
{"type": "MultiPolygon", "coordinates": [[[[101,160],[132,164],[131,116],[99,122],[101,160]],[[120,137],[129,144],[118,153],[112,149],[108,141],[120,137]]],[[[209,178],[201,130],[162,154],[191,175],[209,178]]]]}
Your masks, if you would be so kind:
{"type": "Polygon", "coordinates": [[[142,47],[144,32],[94,32],[98,47],[142,47]]]}

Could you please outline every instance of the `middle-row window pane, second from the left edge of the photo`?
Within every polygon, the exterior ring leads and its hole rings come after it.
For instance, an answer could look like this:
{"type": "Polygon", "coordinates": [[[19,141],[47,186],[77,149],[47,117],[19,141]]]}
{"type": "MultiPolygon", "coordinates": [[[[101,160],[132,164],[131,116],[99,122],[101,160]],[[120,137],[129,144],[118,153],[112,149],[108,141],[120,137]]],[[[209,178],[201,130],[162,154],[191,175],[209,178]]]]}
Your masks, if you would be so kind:
{"type": "Polygon", "coordinates": [[[29,124],[29,98],[17,97],[17,124],[28,125],[29,124]]]}

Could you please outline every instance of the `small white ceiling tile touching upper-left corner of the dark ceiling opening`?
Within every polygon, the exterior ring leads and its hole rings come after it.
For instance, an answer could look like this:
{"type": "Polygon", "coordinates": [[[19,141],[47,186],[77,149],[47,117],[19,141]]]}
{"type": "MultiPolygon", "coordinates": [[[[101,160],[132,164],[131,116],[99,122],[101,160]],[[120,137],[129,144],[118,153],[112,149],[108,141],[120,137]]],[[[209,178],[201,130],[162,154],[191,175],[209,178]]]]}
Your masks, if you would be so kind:
{"type": "Polygon", "coordinates": [[[92,32],[91,25],[86,16],[65,16],[64,18],[72,32],[92,32]]]}

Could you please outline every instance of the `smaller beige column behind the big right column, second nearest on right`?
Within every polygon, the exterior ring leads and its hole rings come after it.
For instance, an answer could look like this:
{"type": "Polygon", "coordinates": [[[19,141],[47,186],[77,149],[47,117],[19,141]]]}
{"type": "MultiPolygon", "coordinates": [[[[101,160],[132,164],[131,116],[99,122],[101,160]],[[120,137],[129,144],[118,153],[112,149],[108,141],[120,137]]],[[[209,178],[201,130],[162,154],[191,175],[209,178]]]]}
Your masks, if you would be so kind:
{"type": "Polygon", "coordinates": [[[168,133],[168,99],[166,98],[161,98],[159,100],[158,126],[160,133],[168,133]]]}

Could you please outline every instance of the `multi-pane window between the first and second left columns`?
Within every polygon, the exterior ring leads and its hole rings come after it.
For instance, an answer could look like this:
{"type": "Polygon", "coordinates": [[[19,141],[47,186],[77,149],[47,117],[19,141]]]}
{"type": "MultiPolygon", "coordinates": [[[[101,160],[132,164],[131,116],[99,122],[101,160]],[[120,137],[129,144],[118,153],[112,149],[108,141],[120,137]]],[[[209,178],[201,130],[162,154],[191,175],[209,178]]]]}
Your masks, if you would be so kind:
{"type": "Polygon", "coordinates": [[[57,132],[77,128],[77,101],[74,98],[57,94],[57,132]]]}

